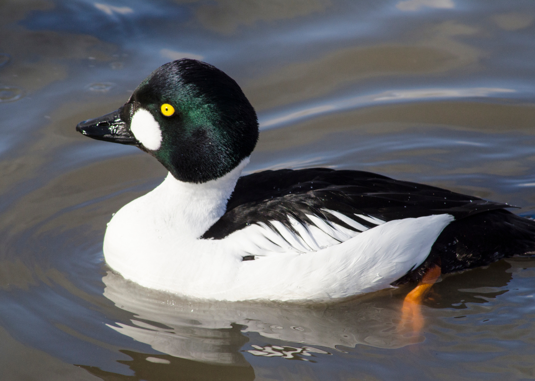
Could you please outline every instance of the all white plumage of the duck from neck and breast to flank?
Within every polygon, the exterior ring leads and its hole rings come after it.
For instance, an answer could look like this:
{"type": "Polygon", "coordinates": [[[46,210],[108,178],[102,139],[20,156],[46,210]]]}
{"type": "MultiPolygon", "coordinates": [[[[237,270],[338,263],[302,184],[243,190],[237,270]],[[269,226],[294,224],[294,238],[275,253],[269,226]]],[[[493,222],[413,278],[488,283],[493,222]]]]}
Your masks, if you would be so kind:
{"type": "MultiPolygon", "coordinates": [[[[389,287],[427,258],[453,220],[447,214],[389,222],[359,215],[378,224],[360,233],[309,215],[311,225],[290,219],[298,234],[273,221],[276,231],[261,223],[224,239],[198,239],[225,213],[247,162],[202,184],[168,175],[155,190],[125,205],[106,230],[108,264],[142,286],[189,297],[341,298],[389,287]],[[255,260],[243,261],[246,255],[255,260]]],[[[340,220],[358,226],[349,217],[340,220]]]]}

